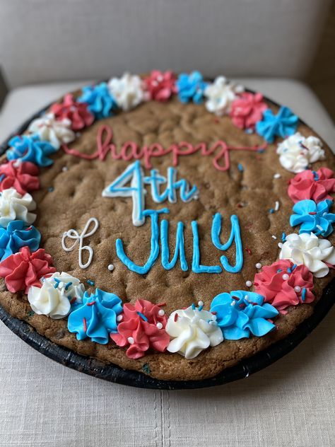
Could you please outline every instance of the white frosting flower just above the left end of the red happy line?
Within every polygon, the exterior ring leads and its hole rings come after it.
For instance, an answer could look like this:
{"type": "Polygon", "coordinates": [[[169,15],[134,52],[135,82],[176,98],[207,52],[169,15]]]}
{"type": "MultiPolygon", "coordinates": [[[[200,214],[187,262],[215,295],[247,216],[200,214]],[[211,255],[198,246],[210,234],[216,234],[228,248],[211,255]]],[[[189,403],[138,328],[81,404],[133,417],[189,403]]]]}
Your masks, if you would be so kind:
{"type": "Polygon", "coordinates": [[[76,138],[71,130],[71,121],[67,118],[56,120],[53,113],[33,120],[28,131],[37,134],[42,141],[49,141],[54,149],[59,149],[61,144],[69,144],[76,138]]]}

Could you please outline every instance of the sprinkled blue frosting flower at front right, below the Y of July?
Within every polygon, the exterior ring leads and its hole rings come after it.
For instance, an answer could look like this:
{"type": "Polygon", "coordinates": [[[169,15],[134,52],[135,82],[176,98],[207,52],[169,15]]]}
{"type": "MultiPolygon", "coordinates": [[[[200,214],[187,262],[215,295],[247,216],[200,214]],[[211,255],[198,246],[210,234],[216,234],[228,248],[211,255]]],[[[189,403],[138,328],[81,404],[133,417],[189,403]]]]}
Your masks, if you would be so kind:
{"type": "Polygon", "coordinates": [[[267,318],[274,318],[278,310],[264,296],[243,290],[217,295],[211,302],[211,312],[216,312],[216,322],[223,337],[228,340],[249,338],[250,334],[262,337],[276,327],[267,318]]]}

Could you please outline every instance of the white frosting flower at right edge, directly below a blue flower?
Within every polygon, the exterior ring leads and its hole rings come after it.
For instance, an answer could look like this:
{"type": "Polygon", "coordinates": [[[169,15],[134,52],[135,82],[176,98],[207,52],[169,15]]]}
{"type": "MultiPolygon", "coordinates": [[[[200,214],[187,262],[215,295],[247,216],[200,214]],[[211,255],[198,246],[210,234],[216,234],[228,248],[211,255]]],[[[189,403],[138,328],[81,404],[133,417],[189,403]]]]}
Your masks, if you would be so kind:
{"type": "Polygon", "coordinates": [[[314,233],[292,233],[286,236],[279,259],[305,264],[315,277],[322,278],[329,272],[326,262],[335,264],[335,249],[329,240],[319,239],[314,233]]]}

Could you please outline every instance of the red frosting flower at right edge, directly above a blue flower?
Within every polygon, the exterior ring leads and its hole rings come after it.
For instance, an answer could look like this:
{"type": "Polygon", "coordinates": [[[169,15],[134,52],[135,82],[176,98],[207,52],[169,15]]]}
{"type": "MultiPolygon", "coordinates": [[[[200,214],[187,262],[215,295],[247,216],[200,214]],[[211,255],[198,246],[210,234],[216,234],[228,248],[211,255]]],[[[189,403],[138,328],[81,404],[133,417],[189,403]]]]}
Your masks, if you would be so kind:
{"type": "Polygon", "coordinates": [[[329,192],[335,192],[334,173],[328,168],[315,170],[304,170],[290,179],[288,195],[293,202],[300,202],[304,199],[312,199],[314,202],[322,200],[332,200],[329,192]]]}

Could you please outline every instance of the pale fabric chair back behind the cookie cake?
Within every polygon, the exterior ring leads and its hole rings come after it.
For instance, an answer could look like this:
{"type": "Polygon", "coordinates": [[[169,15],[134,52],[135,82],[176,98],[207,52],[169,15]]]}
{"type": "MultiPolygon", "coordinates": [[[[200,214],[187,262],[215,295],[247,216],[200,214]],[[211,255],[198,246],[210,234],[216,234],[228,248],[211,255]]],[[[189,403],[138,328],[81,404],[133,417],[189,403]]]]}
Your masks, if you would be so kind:
{"type": "Polygon", "coordinates": [[[304,76],[330,4],[0,0],[0,64],[10,88],[152,66],[206,76],[304,76]]]}

